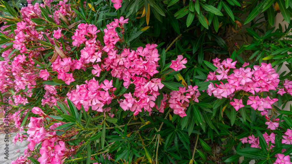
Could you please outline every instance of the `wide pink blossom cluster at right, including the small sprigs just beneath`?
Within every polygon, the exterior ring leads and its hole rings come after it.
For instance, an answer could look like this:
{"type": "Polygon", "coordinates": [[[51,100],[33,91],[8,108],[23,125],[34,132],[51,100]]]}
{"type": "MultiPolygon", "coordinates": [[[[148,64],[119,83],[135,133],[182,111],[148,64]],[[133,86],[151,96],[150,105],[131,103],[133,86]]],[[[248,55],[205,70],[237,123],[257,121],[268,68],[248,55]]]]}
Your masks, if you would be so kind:
{"type": "MultiPolygon", "coordinates": [[[[208,80],[227,80],[227,83],[221,82],[221,84],[215,84],[210,82],[208,86],[207,93],[211,96],[212,94],[217,98],[230,98],[232,100],[234,94],[237,91],[245,91],[251,94],[256,94],[257,92],[276,90],[279,84],[279,75],[276,73],[275,69],[272,68],[271,64],[262,63],[261,66],[253,66],[251,68],[239,68],[235,69],[236,61],[232,62],[232,59],[226,59],[220,63],[220,59],[213,59],[214,65],[218,68],[215,72],[210,72],[208,80]],[[231,73],[231,69],[233,73],[231,73]],[[231,74],[230,74],[231,73],[231,74]]],[[[244,66],[248,65],[245,64],[244,66]]],[[[251,105],[255,110],[264,111],[264,108],[271,109],[272,104],[278,99],[270,97],[260,98],[259,96],[249,96],[247,105],[251,105]]],[[[244,107],[242,100],[235,99],[234,102],[230,102],[236,110],[244,107]]]]}

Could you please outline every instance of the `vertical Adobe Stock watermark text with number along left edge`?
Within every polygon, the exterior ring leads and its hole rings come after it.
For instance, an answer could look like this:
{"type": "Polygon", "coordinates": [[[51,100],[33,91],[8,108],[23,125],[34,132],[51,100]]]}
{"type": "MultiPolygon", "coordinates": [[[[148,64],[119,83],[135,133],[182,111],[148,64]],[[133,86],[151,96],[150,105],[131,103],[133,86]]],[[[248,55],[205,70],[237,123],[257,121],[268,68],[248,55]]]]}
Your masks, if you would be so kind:
{"type": "Polygon", "coordinates": [[[5,133],[5,137],[4,137],[4,149],[3,149],[3,154],[4,154],[4,158],[6,160],[8,160],[9,157],[9,117],[8,117],[8,97],[4,97],[4,117],[3,117],[3,121],[4,121],[4,133],[5,133]]]}

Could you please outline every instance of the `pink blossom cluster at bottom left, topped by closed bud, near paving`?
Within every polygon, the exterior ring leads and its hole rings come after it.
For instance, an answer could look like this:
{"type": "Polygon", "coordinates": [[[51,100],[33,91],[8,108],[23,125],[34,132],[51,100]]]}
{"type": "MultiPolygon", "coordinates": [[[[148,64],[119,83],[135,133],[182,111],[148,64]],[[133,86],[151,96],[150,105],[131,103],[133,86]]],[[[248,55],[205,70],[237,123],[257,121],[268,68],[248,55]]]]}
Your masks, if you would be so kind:
{"type": "Polygon", "coordinates": [[[41,156],[38,158],[38,161],[41,164],[62,164],[65,161],[65,157],[71,156],[70,154],[74,151],[73,149],[68,150],[65,142],[60,139],[61,136],[56,135],[56,131],[54,131],[62,123],[54,123],[51,125],[50,131],[48,131],[44,128],[43,124],[46,114],[39,107],[33,107],[32,112],[39,114],[41,117],[30,117],[29,129],[27,131],[29,135],[27,141],[29,141],[29,144],[27,147],[33,151],[36,144],[41,143],[41,156]]]}

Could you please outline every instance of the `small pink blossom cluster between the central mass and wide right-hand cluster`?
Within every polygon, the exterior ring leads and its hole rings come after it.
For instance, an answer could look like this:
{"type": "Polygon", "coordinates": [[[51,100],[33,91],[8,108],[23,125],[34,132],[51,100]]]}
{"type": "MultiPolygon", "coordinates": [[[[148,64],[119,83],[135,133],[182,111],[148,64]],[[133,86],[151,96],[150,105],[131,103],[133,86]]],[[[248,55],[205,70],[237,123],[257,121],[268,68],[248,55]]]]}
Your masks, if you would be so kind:
{"type": "Polygon", "coordinates": [[[174,114],[180,115],[180,117],[187,116],[185,110],[189,106],[190,100],[199,103],[198,97],[201,95],[198,90],[198,86],[179,87],[179,91],[172,91],[168,100],[169,107],[173,109],[174,114]]]}

